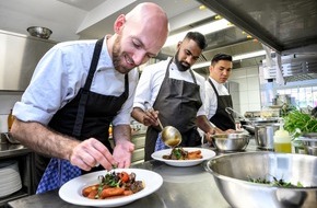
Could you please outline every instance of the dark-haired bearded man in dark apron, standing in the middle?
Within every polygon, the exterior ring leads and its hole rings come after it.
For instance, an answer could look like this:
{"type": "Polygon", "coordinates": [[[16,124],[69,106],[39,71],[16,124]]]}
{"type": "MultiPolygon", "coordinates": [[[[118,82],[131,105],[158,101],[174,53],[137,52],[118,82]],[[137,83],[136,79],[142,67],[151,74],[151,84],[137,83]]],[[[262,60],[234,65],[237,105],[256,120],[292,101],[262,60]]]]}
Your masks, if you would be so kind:
{"type": "MultiPolygon", "coordinates": [[[[201,137],[197,131],[197,120],[200,120],[198,117],[203,117],[206,131],[213,131],[213,128],[209,124],[206,115],[197,115],[198,111],[202,106],[202,100],[200,95],[201,86],[199,85],[200,83],[198,83],[193,71],[190,69],[206,46],[207,45],[203,35],[196,32],[189,32],[184,41],[178,43],[178,50],[175,57],[169,59],[167,65],[165,63],[166,61],[163,65],[160,65],[160,62],[158,65],[155,65],[154,68],[161,68],[164,66],[163,69],[155,69],[160,70],[161,79],[163,77],[162,73],[165,72],[162,83],[157,81],[155,74],[153,74],[155,78],[145,78],[146,82],[151,82],[149,85],[158,85],[160,83],[160,90],[158,92],[156,91],[156,97],[152,92],[152,94],[148,92],[151,91],[151,89],[142,89],[142,76],[138,84],[139,88],[137,86],[134,104],[140,101],[140,97],[138,97],[139,92],[141,96],[142,92],[144,92],[143,94],[146,95],[151,94],[150,97],[141,97],[141,100],[143,99],[143,102],[155,100],[152,107],[160,112],[158,117],[163,126],[174,126],[179,130],[183,139],[180,143],[181,147],[196,147],[201,145],[201,137]],[[187,80],[185,80],[184,77],[181,79],[171,78],[169,74],[172,70],[179,71],[180,77],[185,76],[180,73],[186,73],[187,80]],[[140,91],[138,92],[139,89],[140,91]]],[[[149,68],[148,70],[154,69],[149,68]]],[[[145,81],[145,79],[143,80],[145,81]]],[[[204,79],[201,78],[201,80],[203,84],[204,79]]],[[[140,104],[143,105],[143,103],[140,104]]],[[[146,112],[146,109],[141,109],[140,107],[134,107],[132,112],[134,119],[143,123],[144,125],[148,124],[149,126],[145,137],[145,161],[151,160],[151,154],[155,150],[155,143],[161,131],[160,126],[157,126],[156,123],[153,123],[153,117],[155,116],[151,117],[151,115],[148,114],[149,112],[146,112]],[[149,123],[145,120],[148,118],[151,120],[151,125],[149,125],[149,123]]]]}

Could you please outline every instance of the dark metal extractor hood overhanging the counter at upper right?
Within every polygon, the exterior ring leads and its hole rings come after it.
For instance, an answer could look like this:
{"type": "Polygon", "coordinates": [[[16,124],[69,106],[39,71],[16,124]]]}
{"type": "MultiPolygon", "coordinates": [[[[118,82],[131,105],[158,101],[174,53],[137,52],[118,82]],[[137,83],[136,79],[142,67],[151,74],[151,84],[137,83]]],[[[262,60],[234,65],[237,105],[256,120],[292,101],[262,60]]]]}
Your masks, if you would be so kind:
{"type": "Polygon", "coordinates": [[[316,0],[198,0],[281,55],[317,53],[316,0]]]}

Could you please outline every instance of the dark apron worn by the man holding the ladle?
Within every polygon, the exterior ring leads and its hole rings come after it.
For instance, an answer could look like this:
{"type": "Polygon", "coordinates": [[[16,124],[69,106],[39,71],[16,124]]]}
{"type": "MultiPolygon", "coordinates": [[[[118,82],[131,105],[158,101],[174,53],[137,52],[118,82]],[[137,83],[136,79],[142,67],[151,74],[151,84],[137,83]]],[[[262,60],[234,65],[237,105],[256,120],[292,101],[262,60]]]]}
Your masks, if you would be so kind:
{"type": "MultiPolygon", "coordinates": [[[[165,78],[153,104],[155,111],[160,111],[158,117],[163,126],[174,126],[181,134],[181,147],[196,147],[201,145],[197,131],[196,117],[202,102],[199,93],[200,86],[191,69],[189,69],[193,83],[169,78],[169,60],[165,78]]],[[[160,134],[160,127],[150,126],[145,138],[144,160],[151,160],[155,142],[160,134]]]]}

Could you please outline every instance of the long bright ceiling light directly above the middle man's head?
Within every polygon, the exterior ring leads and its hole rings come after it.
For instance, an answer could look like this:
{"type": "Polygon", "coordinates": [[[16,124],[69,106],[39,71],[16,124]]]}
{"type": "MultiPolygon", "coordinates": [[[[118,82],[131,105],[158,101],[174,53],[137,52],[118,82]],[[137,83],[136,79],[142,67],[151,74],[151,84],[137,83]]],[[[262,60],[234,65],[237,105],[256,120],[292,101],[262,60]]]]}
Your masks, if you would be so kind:
{"type": "Polygon", "coordinates": [[[214,33],[224,28],[228,28],[231,26],[233,26],[233,24],[230,24],[227,20],[222,19],[222,20],[214,21],[208,24],[203,24],[201,26],[192,27],[188,31],[184,31],[181,33],[177,33],[175,35],[168,36],[163,47],[176,45],[178,42],[183,41],[186,34],[190,31],[199,32],[203,35],[207,35],[207,34],[214,33]]]}

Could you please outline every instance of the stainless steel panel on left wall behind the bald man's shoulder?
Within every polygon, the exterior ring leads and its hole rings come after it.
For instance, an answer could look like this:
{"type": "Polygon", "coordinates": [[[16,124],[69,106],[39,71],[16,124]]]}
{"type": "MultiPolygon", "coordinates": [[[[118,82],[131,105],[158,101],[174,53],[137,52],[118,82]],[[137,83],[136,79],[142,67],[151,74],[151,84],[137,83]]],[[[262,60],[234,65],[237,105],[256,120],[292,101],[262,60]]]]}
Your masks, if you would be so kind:
{"type": "Polygon", "coordinates": [[[0,91],[24,91],[39,59],[56,44],[0,30],[0,91]]]}

